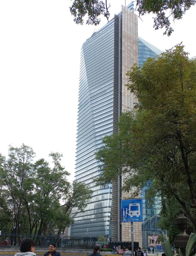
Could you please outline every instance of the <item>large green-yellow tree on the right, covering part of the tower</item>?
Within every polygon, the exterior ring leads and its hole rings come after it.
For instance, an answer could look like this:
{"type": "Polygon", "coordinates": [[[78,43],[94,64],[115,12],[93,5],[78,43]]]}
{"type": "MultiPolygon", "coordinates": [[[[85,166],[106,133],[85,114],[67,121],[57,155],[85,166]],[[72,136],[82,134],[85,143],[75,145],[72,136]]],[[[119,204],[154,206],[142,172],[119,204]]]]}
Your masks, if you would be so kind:
{"type": "Polygon", "coordinates": [[[151,179],[148,197],[174,197],[196,228],[196,60],[177,45],[127,75],[138,103],[121,115],[119,133],[103,139],[97,182],[126,175],[122,189],[137,188],[134,197],[151,179]]]}

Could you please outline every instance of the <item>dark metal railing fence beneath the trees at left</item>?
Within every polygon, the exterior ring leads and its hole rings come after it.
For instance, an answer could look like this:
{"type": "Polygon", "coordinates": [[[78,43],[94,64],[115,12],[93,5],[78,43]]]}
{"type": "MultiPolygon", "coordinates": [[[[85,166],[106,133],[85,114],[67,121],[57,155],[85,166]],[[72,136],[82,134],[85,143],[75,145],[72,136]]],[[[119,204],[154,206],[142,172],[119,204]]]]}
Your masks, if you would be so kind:
{"type": "Polygon", "coordinates": [[[57,235],[29,235],[29,234],[7,234],[1,233],[0,248],[19,248],[20,241],[24,238],[32,238],[36,248],[48,248],[50,243],[56,243],[62,249],[89,249],[96,245],[96,237],[72,237],[64,236],[58,238],[57,235]]]}

